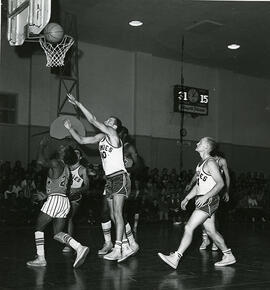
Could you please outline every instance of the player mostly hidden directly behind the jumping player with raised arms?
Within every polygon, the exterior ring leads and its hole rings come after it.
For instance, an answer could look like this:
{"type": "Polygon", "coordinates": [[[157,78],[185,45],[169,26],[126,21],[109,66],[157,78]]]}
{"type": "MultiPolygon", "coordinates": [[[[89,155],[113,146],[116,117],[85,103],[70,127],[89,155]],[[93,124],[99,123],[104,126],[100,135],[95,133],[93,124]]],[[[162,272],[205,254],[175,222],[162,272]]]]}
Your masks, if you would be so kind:
{"type": "MultiPolygon", "coordinates": [[[[128,142],[128,129],[124,126],[121,126],[119,131],[119,137],[123,143],[124,150],[124,164],[126,170],[128,172],[131,171],[132,167],[135,167],[135,164],[138,164],[138,155],[137,150],[130,142],[128,142]]],[[[106,198],[106,190],[103,193],[103,203],[102,203],[102,211],[101,211],[101,227],[104,236],[104,245],[102,249],[98,251],[99,255],[107,254],[113,247],[111,240],[111,220],[114,221],[114,218],[111,217],[110,208],[108,206],[107,198],[106,198]]],[[[125,224],[125,231],[128,242],[130,244],[131,249],[133,250],[133,254],[135,254],[139,250],[139,245],[136,243],[131,226],[128,222],[125,224]]]]}

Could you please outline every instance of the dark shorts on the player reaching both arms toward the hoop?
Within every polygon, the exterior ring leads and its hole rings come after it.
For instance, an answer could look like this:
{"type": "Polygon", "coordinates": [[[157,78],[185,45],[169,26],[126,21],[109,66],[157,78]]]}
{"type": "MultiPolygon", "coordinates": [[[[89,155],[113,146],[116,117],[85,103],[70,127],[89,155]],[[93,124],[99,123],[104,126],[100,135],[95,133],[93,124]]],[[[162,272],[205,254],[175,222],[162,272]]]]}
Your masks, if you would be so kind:
{"type": "Polygon", "coordinates": [[[105,192],[107,198],[114,194],[123,194],[128,197],[131,189],[130,177],[127,172],[120,172],[106,176],[105,192]]]}

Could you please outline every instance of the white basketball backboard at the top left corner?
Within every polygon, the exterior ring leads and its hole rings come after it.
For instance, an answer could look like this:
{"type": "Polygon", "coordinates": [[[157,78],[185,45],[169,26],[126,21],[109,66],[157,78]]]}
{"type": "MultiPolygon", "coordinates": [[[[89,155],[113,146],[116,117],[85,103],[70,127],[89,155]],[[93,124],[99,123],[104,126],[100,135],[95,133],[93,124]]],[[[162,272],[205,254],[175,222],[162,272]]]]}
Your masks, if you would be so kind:
{"type": "Polygon", "coordinates": [[[51,0],[8,0],[9,44],[22,45],[25,39],[38,36],[50,17],[51,0]]]}

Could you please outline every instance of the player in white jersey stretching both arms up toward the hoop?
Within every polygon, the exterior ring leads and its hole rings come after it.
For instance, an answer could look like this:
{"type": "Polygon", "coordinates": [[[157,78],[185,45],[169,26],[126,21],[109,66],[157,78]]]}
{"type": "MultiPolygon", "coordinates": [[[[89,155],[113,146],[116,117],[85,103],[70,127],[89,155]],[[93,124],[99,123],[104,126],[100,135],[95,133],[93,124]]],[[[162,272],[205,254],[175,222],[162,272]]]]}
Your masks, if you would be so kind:
{"type": "Polygon", "coordinates": [[[72,128],[69,120],[64,122],[64,126],[79,144],[99,144],[102,166],[106,175],[106,197],[116,227],[114,248],[104,256],[104,259],[122,262],[134,252],[129,246],[124,230],[123,208],[130,193],[130,178],[124,165],[123,144],[117,133],[120,128],[120,120],[110,117],[101,123],[71,94],[67,96],[69,102],[82,111],[88,122],[101,131],[92,137],[82,137],[72,128]]]}

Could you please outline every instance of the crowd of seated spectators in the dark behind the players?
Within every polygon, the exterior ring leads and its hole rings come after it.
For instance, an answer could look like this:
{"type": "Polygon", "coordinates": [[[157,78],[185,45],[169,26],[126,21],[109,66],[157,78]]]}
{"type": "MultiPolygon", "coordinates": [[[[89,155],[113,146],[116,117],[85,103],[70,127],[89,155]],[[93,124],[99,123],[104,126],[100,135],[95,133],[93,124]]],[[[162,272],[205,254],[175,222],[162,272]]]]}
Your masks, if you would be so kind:
{"type": "MultiPolygon", "coordinates": [[[[90,186],[77,216],[79,223],[100,223],[100,209],[105,180],[102,167],[86,164],[90,186]]],[[[184,189],[194,172],[176,169],[146,168],[143,179],[133,182],[127,202],[130,222],[139,214],[140,222],[184,223],[189,210],[180,204],[184,189]]],[[[34,224],[46,198],[47,172],[35,161],[23,168],[20,161],[0,163],[0,223],[6,225],[34,224]]],[[[230,201],[221,207],[226,219],[239,222],[267,222],[270,210],[270,178],[262,173],[230,172],[230,201]]],[[[192,207],[192,203],[190,205],[192,207]]],[[[190,208],[192,210],[192,208],[190,208]]]]}

